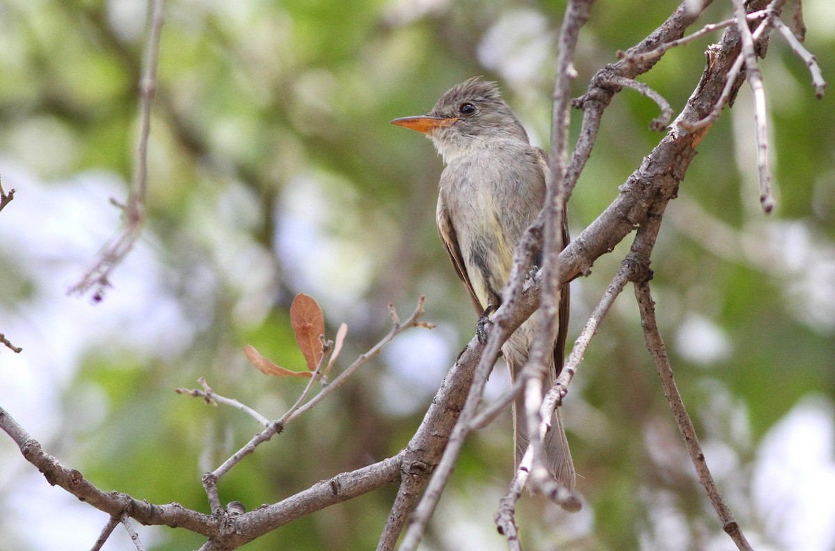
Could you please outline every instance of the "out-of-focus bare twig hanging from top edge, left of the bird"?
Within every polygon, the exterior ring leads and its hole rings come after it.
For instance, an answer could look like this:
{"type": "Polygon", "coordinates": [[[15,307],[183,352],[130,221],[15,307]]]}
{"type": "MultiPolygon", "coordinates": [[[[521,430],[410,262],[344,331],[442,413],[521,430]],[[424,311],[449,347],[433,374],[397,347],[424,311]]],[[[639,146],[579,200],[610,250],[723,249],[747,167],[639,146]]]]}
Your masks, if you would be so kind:
{"type": "Polygon", "coordinates": [[[127,204],[124,205],[124,229],[119,231],[99,253],[99,260],[87,270],[70,292],[83,295],[94,288],[94,301],[102,300],[110,286],[109,277],[134,248],[144,221],[145,191],[148,187],[148,138],[151,124],[151,102],[156,88],[159,38],[163,23],[163,0],[149,0],[149,32],[144,46],[144,66],[139,79],[139,139],[134,174],[127,204]]]}

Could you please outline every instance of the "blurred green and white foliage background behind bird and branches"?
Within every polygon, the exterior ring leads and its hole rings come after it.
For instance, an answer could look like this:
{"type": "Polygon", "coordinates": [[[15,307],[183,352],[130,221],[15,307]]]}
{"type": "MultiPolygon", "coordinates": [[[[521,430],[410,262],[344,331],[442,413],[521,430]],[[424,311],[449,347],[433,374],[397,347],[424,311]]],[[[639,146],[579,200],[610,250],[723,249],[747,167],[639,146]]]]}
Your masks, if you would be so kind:
{"type": "MultiPolygon", "coordinates": [[[[676,3],[601,0],[574,84],[660,24],[676,3]]],[[[835,8],[803,3],[807,47],[835,74],[835,8]]],[[[0,405],[99,488],[208,512],[200,476],[258,430],[216,392],[279,417],[300,380],[265,377],[246,344],[302,369],[287,309],[316,297],[341,366],[427,296],[432,331],[409,331],[336,395],[220,484],[224,503],[272,503],[403,447],[473,335],[475,312],[434,229],[441,160],[388,124],[423,114],[473,75],[500,83],[547,149],[554,43],[564,2],[171,0],[149,144],[148,220],[104,301],[68,295],[119,229],[134,163],[141,0],[0,1],[0,405]]],[[[716,0],[701,23],[731,14],[716,0]]],[[[695,29],[695,28],[694,28],[695,29]]],[[[718,34],[641,78],[676,112],[718,34]]],[[[759,550],[835,549],[835,109],[813,97],[775,37],[762,63],[777,210],[758,205],[751,93],[701,144],[653,259],[661,330],[708,464],[759,550]]],[[[660,135],[655,105],[619,94],[569,205],[574,234],[617,195],[660,135]]],[[[578,126],[575,113],[574,134],[578,126]]],[[[569,341],[628,243],[572,284],[569,341]]],[[[341,366],[337,366],[337,370],[341,366]]],[[[504,368],[488,395],[507,385],[504,368]]],[[[564,408],[585,507],[524,498],[531,549],[733,548],[696,483],[635,299],[621,296],[564,408]]],[[[509,415],[468,440],[423,548],[504,548],[493,526],[512,469],[509,415]]],[[[374,548],[395,488],[301,519],[247,549],[374,548]]],[[[51,488],[0,438],[0,549],[89,548],[106,523],[51,488]]],[[[153,549],[183,530],[137,527],[153,549]]],[[[105,549],[130,549],[121,528],[105,549]]]]}

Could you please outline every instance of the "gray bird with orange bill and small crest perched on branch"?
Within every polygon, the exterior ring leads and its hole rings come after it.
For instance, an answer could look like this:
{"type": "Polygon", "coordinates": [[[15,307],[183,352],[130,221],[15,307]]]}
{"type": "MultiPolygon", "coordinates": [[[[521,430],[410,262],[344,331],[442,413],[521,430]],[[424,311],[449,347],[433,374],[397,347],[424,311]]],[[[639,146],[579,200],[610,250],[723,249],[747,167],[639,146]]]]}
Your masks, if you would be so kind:
{"type": "MultiPolygon", "coordinates": [[[[516,243],[542,210],[547,156],[529,143],[528,134],[504,103],[496,84],[478,78],[451,88],[429,114],[394,119],[392,124],[426,134],[443,156],[446,168],[438,192],[438,232],[473,305],[479,314],[488,316],[501,303],[516,243]]],[[[568,240],[564,225],[563,242],[568,240]]],[[[502,347],[514,380],[528,360],[535,317],[525,321],[502,347]]],[[[554,364],[546,389],[563,366],[568,317],[566,286],[560,297],[554,364]]],[[[513,410],[518,466],[529,442],[522,398],[513,410]]],[[[551,473],[573,490],[574,464],[559,409],[544,443],[551,473]]]]}

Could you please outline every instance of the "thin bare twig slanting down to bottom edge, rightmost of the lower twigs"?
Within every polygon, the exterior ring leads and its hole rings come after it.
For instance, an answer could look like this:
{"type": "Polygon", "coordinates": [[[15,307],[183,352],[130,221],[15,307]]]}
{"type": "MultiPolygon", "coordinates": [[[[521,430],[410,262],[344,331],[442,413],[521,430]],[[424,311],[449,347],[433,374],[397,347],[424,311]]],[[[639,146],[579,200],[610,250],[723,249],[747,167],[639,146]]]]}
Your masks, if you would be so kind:
{"type": "Polygon", "coordinates": [[[731,536],[733,542],[736,543],[736,547],[741,551],[752,551],[751,545],[739,528],[739,524],[736,523],[730,509],[722,499],[719,488],[716,488],[716,483],[707,468],[705,454],[701,450],[699,438],[696,436],[696,428],[693,427],[693,422],[687,414],[684,402],[681,400],[681,394],[676,387],[670,359],[667,357],[664,341],[655,321],[655,303],[650,295],[649,281],[635,282],[635,297],[640,308],[640,325],[644,329],[646,348],[655,360],[655,366],[658,368],[658,374],[661,378],[661,385],[664,387],[664,394],[667,397],[667,402],[670,403],[673,417],[676,417],[676,424],[681,436],[684,437],[685,447],[690,454],[693,467],[696,468],[699,483],[705,488],[707,497],[711,500],[713,508],[716,509],[722,523],[722,529],[731,536]]]}

